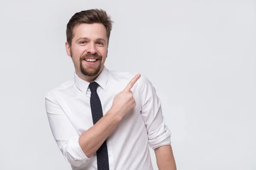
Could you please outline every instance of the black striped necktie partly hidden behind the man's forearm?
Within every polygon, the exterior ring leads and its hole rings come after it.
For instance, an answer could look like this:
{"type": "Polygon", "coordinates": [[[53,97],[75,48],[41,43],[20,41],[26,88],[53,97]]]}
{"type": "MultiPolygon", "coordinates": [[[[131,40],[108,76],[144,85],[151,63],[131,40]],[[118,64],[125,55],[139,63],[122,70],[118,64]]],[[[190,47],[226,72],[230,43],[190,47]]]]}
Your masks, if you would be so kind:
{"type": "MultiPolygon", "coordinates": [[[[90,107],[93,116],[93,125],[102,118],[102,105],[97,94],[98,83],[92,82],[89,85],[91,96],[90,96],[90,107]]],[[[92,141],[93,142],[93,141],[92,141]]],[[[105,140],[101,147],[96,151],[98,170],[109,170],[108,164],[108,147],[107,141],[105,140]]]]}

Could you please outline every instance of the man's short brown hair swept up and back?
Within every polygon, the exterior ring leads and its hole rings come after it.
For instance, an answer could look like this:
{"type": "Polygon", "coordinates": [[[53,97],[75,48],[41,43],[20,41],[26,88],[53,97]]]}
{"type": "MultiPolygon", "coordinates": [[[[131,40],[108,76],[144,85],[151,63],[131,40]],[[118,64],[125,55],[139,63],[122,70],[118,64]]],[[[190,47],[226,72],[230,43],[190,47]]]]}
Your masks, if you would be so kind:
{"type": "Polygon", "coordinates": [[[107,30],[107,37],[109,42],[110,32],[112,30],[112,23],[111,17],[108,16],[107,12],[102,9],[89,9],[85,11],[77,12],[70,18],[69,22],[67,23],[67,42],[71,46],[72,39],[74,37],[73,28],[77,24],[87,23],[102,23],[106,30],[107,30]]]}

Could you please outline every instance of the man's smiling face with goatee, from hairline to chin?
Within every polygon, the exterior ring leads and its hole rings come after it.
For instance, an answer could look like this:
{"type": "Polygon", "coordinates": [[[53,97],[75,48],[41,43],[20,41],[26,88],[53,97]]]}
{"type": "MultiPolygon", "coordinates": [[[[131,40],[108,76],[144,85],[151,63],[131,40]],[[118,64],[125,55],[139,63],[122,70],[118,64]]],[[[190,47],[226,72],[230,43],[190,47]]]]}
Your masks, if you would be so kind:
{"type": "Polygon", "coordinates": [[[108,53],[105,26],[101,23],[82,23],[74,27],[73,34],[71,46],[66,42],[66,50],[68,56],[72,57],[76,73],[96,76],[104,68],[108,53]]]}

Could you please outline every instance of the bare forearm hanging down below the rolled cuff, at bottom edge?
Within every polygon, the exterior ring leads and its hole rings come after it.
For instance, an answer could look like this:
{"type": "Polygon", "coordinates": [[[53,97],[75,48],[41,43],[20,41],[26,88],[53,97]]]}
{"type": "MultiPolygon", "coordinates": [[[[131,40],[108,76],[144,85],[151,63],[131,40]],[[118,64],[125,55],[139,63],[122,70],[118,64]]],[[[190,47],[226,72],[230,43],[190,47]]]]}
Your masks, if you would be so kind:
{"type": "Polygon", "coordinates": [[[171,145],[154,149],[159,170],[177,170],[171,145]]]}

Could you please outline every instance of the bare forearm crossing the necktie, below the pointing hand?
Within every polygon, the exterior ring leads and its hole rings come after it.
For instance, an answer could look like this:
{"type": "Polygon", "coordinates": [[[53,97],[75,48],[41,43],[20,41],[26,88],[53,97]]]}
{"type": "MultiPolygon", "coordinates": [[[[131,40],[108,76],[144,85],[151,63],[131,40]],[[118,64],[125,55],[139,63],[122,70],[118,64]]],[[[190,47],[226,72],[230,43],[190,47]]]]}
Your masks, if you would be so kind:
{"type": "Polygon", "coordinates": [[[99,149],[121,119],[115,111],[110,110],[95,125],[81,134],[79,145],[87,158],[90,158],[99,149]]]}

